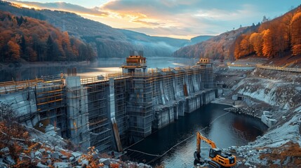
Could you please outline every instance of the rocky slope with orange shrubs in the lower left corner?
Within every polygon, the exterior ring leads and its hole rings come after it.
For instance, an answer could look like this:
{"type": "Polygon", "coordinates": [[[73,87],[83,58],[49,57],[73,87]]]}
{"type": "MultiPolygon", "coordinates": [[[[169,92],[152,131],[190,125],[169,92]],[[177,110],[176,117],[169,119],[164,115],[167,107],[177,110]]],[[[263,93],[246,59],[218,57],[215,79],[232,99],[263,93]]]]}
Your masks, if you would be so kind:
{"type": "MultiPolygon", "coordinates": [[[[3,108],[0,109],[3,117],[3,108]]],[[[4,115],[5,116],[5,115],[4,115]]],[[[86,153],[62,139],[55,127],[48,125],[46,133],[4,119],[0,123],[0,167],[150,167],[137,162],[122,161],[122,153],[98,153],[94,147],[86,153]],[[8,124],[7,122],[11,122],[8,124]]]]}

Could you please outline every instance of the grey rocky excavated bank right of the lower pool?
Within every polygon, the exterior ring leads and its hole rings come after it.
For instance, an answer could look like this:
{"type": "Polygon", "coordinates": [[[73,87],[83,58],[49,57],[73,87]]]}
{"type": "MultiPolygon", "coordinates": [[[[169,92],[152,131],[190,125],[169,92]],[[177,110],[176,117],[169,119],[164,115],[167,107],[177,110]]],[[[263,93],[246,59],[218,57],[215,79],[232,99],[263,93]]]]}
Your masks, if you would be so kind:
{"type": "MultiPolygon", "coordinates": [[[[301,164],[301,104],[300,73],[255,69],[229,71],[220,66],[216,79],[224,82],[224,98],[231,102],[233,95],[248,101],[233,101],[234,113],[254,116],[260,120],[262,111],[272,113],[277,123],[262,137],[247,146],[232,146],[226,151],[236,153],[237,167],[298,167],[301,164]]],[[[222,100],[222,102],[227,102],[222,100]]]]}

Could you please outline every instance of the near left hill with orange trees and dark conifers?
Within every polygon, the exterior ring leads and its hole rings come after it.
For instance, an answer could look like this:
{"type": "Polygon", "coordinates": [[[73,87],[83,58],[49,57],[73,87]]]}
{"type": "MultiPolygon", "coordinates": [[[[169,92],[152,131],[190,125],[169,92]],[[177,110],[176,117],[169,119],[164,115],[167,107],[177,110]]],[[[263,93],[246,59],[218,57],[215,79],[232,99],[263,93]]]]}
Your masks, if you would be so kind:
{"type": "Polygon", "coordinates": [[[0,11],[0,62],[82,61],[92,48],[45,21],[0,11]]]}

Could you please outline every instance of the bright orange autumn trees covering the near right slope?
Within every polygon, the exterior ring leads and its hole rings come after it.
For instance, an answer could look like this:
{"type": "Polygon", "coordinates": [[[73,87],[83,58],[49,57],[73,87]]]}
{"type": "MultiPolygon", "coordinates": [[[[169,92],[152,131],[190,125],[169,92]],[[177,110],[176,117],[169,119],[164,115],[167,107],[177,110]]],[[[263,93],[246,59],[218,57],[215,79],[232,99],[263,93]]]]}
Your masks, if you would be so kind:
{"type": "Polygon", "coordinates": [[[239,36],[234,55],[236,59],[248,55],[269,58],[301,55],[301,6],[239,36]]]}

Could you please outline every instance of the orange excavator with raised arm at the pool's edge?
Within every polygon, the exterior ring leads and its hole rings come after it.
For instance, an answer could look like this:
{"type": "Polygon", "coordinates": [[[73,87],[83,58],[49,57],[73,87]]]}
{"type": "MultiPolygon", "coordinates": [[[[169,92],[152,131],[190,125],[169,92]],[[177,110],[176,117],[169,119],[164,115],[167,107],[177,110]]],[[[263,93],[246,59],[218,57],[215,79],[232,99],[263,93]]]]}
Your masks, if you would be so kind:
{"type": "Polygon", "coordinates": [[[203,164],[207,162],[210,167],[232,167],[236,165],[236,157],[231,153],[222,153],[222,151],[216,147],[215,143],[206,137],[203,137],[201,132],[196,132],[196,151],[194,152],[194,159],[196,162],[203,164]],[[209,152],[209,159],[203,160],[201,158],[201,140],[205,141],[211,146],[209,152]]]}

